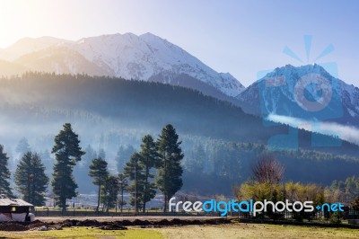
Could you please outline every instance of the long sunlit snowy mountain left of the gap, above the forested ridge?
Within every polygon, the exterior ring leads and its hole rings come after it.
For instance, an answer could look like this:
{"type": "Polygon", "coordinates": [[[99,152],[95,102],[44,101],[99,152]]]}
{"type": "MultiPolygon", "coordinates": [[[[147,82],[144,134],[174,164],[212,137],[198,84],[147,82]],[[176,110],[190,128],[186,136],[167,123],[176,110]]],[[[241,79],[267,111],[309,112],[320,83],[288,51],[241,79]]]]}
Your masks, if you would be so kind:
{"type": "Polygon", "coordinates": [[[187,86],[217,98],[236,96],[244,90],[229,73],[215,72],[184,49],[152,33],[103,35],[77,41],[26,38],[1,49],[0,59],[3,75],[25,71],[109,75],[187,86]],[[184,76],[189,80],[180,80],[184,76]]]}

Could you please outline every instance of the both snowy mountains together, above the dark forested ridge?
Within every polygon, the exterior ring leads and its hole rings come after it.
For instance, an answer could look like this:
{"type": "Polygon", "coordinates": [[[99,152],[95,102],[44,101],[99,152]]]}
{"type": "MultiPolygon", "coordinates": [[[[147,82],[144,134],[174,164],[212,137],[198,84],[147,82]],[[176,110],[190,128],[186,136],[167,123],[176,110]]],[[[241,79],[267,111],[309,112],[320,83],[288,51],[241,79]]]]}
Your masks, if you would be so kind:
{"type": "Polygon", "coordinates": [[[26,38],[0,49],[0,75],[27,71],[108,75],[179,85],[269,120],[285,116],[292,121],[359,127],[359,89],[330,75],[320,65],[277,67],[245,88],[229,73],[215,72],[152,33],[102,35],[76,41],[26,38]]]}

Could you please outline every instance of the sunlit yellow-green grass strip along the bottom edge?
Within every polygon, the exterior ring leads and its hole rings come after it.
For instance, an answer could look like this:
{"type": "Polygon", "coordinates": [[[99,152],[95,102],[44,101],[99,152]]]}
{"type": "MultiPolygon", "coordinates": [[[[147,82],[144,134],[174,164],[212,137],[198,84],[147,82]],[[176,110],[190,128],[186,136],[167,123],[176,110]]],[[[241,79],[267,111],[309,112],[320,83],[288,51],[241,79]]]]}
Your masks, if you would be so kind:
{"type": "Polygon", "coordinates": [[[0,232],[0,238],[359,238],[359,229],[232,223],[220,226],[169,226],[124,231],[71,227],[59,231],[0,232]]]}

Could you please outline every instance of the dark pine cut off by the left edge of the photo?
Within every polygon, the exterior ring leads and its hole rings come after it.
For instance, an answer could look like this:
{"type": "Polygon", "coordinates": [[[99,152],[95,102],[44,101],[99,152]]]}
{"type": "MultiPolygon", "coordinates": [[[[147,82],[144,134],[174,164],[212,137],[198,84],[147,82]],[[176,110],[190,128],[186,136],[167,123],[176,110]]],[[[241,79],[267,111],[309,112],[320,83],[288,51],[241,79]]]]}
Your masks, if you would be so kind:
{"type": "Polygon", "coordinates": [[[4,153],[4,146],[0,145],[0,194],[7,197],[13,197],[13,192],[10,188],[10,171],[8,168],[9,157],[4,153]]]}

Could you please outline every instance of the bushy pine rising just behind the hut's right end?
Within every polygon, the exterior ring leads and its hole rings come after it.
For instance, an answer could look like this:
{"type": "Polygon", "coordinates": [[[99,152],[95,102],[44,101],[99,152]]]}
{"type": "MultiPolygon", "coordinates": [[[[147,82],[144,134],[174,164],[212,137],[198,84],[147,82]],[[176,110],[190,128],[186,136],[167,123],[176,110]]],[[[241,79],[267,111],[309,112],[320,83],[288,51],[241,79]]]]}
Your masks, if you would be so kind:
{"type": "Polygon", "coordinates": [[[44,205],[44,193],[48,188],[48,176],[38,154],[27,152],[22,156],[14,175],[17,190],[22,199],[34,206],[44,205]]]}

